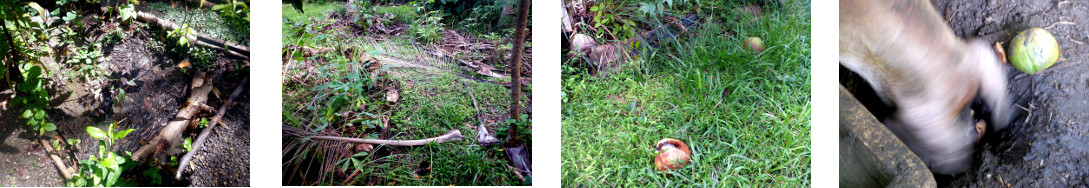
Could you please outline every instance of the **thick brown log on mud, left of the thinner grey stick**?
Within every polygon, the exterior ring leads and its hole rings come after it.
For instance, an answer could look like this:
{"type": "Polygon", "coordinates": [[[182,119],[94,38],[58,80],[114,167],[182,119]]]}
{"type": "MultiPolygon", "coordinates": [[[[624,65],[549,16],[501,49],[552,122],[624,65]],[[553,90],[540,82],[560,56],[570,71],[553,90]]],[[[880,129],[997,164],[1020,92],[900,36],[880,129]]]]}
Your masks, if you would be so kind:
{"type": "Polygon", "coordinates": [[[189,98],[182,105],[182,110],[178,112],[178,115],[173,120],[167,122],[166,127],[159,131],[158,136],[151,138],[147,145],[140,147],[136,152],[133,152],[131,158],[133,161],[143,162],[147,159],[146,156],[176,147],[180,143],[187,125],[194,120],[194,116],[200,113],[200,108],[198,106],[208,100],[208,93],[212,89],[212,77],[215,76],[209,76],[205,72],[196,73],[193,77],[193,86],[189,87],[189,98]]]}

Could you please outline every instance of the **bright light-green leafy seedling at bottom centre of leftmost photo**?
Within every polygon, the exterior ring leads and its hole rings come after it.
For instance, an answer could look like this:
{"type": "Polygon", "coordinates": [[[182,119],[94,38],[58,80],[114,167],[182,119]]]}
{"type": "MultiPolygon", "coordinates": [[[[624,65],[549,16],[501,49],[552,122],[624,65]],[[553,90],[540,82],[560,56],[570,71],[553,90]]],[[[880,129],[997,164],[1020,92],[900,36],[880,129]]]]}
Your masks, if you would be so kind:
{"type": "Polygon", "coordinates": [[[114,141],[124,138],[133,129],[113,131],[117,122],[110,124],[106,131],[98,127],[87,126],[87,135],[98,139],[98,154],[90,155],[88,160],[79,160],[79,173],[73,174],[66,183],[69,187],[114,187],[131,186],[121,178],[121,173],[136,165],[129,161],[129,158],[121,156],[113,151],[114,141]]]}

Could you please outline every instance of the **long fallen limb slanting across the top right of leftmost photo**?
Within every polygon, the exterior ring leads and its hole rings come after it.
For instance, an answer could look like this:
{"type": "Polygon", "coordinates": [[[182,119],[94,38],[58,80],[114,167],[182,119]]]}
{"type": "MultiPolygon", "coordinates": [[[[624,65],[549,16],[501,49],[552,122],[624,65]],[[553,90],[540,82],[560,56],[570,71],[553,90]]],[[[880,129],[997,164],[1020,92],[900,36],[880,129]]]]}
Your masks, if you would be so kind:
{"type": "MultiPolygon", "coordinates": [[[[102,9],[102,12],[109,11],[108,7],[102,7],[100,9],[102,9]]],[[[161,20],[155,16],[154,14],[147,12],[136,12],[136,20],[162,27],[162,29],[166,30],[173,30],[181,27],[181,25],[178,25],[168,20],[161,20]]],[[[208,37],[204,34],[196,34],[195,36],[186,36],[185,39],[188,40],[191,43],[196,43],[207,48],[217,49],[222,51],[223,53],[234,55],[236,58],[249,59],[249,47],[246,46],[240,46],[234,42],[216,39],[212,37],[208,37]]]]}

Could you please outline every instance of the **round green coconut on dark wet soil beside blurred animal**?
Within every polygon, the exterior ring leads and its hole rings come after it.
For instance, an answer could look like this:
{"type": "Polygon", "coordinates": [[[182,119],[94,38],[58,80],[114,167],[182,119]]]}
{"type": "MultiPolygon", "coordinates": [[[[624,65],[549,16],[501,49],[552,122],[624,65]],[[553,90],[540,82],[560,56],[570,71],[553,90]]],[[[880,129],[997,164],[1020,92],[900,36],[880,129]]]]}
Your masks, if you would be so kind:
{"type": "Polygon", "coordinates": [[[1042,28],[1029,28],[1014,37],[1006,54],[1014,67],[1033,74],[1054,65],[1059,61],[1059,42],[1051,33],[1042,28]]]}

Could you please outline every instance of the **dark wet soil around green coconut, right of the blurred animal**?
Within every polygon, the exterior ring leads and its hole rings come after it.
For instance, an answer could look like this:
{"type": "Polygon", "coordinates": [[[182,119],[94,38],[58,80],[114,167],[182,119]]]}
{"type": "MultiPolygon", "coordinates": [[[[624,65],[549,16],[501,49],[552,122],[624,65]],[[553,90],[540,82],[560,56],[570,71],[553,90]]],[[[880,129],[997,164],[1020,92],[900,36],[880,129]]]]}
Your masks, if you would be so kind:
{"type": "MultiPolygon", "coordinates": [[[[933,0],[962,38],[1008,41],[1029,27],[1050,32],[1062,60],[1033,75],[1004,65],[1015,101],[1011,126],[989,133],[969,172],[941,187],[1089,186],[1089,2],[933,0]]],[[[1007,48],[1008,49],[1008,48],[1007,48]]]]}

